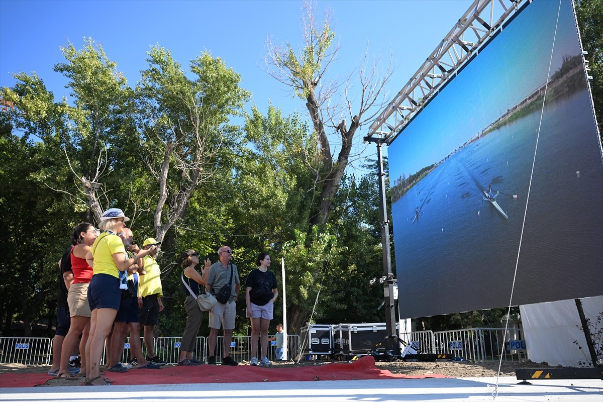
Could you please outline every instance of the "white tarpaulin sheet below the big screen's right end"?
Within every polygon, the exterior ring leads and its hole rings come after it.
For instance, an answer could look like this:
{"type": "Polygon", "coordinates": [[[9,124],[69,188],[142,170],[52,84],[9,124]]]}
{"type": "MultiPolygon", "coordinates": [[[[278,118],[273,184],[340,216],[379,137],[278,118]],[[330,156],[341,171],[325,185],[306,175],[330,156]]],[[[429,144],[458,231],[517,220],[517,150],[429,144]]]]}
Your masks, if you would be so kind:
{"type": "MultiPolygon", "coordinates": [[[[596,323],[603,312],[603,296],[581,300],[584,315],[593,324],[596,323]]],[[[590,362],[589,349],[580,329],[582,325],[573,299],[525,304],[519,306],[519,310],[528,358],[532,362],[573,367],[579,366],[579,362],[590,362]],[[575,341],[578,345],[574,344],[575,341]]]]}

